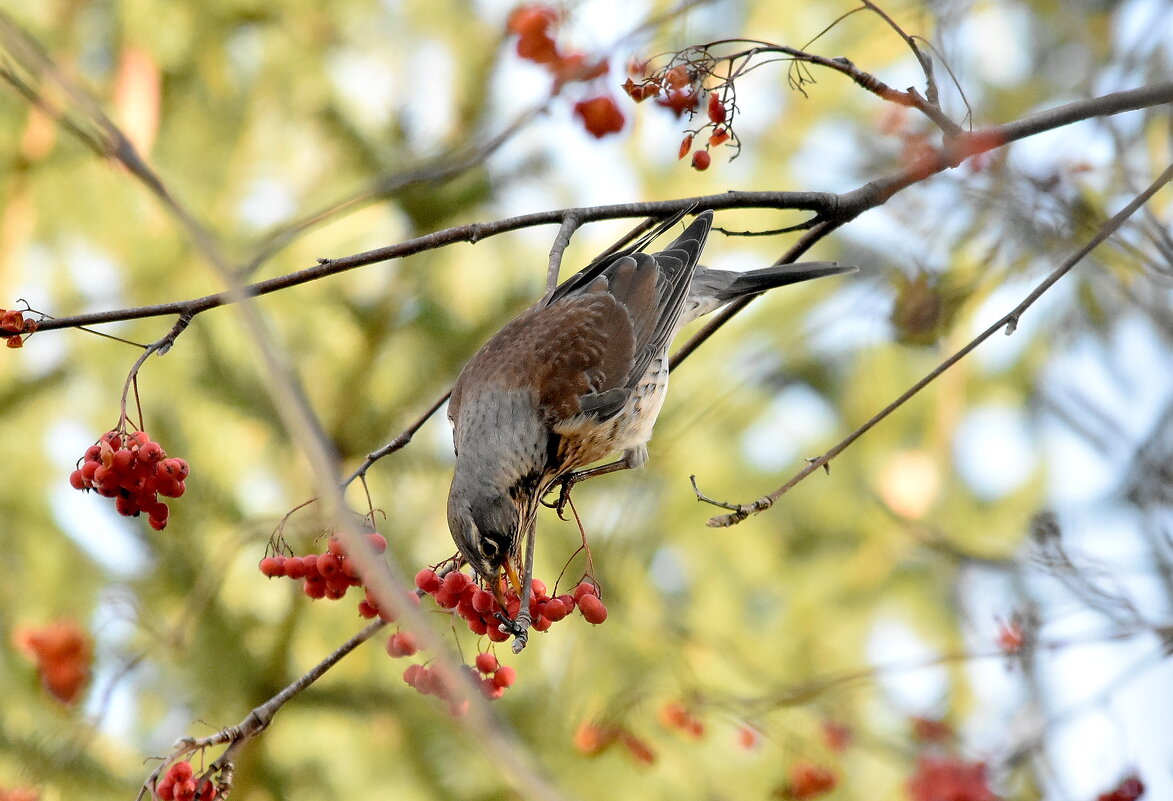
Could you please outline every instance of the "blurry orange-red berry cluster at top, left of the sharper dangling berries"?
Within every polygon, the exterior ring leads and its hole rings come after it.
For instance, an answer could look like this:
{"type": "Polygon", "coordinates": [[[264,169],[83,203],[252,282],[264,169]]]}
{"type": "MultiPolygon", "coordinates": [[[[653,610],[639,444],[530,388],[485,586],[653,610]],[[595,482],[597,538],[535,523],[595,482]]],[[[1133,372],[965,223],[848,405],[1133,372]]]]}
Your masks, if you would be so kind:
{"type": "MultiPolygon", "coordinates": [[[[517,36],[517,55],[542,65],[554,76],[555,88],[606,75],[605,59],[591,60],[578,52],[564,53],[556,40],[562,16],[543,4],[526,4],[509,14],[506,28],[517,36]]],[[[602,138],[623,130],[623,111],[610,95],[599,94],[575,103],[575,116],[591,136],[602,138]]]]}

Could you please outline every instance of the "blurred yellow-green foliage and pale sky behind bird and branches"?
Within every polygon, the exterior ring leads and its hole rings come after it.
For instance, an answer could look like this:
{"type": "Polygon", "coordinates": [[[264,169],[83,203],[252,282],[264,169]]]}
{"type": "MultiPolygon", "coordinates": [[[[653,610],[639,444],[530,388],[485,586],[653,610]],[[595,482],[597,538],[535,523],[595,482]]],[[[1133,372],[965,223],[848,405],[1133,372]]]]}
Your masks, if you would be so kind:
{"type": "MultiPolygon", "coordinates": [[[[623,133],[588,136],[574,102],[601,89],[618,97],[632,55],[733,36],[801,47],[853,7],[691,5],[563,6],[562,35],[612,69],[552,99],[549,77],[513,53],[510,4],[495,0],[50,0],[5,12],[94,94],[250,279],[558,206],[843,191],[931,141],[927,123],[839,75],[815,73],[807,96],[791,90],[786,63],[739,83],[744,148],[735,161],[714,151],[706,172],[676,161],[683,124],[651,103],[624,99],[623,133]]],[[[947,110],[967,114],[945,63],[976,125],[1169,74],[1171,9],[1153,0],[887,11],[935,45],[947,110]]],[[[811,49],[897,88],[922,86],[873,14],[846,18],[811,49]]],[[[795,765],[814,763],[838,776],[828,797],[876,800],[904,797],[917,756],[938,753],[985,761],[1005,797],[1093,797],[1130,771],[1173,792],[1168,754],[1152,745],[1173,734],[1169,667],[1153,633],[1173,600],[1167,192],[1013,337],[769,512],[708,529],[716,510],[689,486],[694,474],[707,495],[735,502],[777,487],[1018,303],[1168,154],[1166,107],[935,177],[812,253],[859,274],[777,292],[690,358],[647,467],[575,493],[610,619],[592,627],[576,616],[518,657],[499,650],[520,678],[494,710],[541,769],[574,797],[741,799],[785,792],[795,765]],[[1039,521],[1055,536],[1038,535],[1039,521]],[[999,620],[1015,615],[1046,647],[999,653],[999,620]],[[701,738],[659,722],[670,701],[704,721],[701,738]],[[917,718],[943,721],[943,740],[927,742],[917,718]],[[624,727],[655,763],[622,746],[584,756],[572,745],[584,721],[624,727]],[[828,725],[849,729],[850,745],[828,741],[828,725]],[[745,726],[760,736],[752,748],[739,744],[745,726]]],[[[9,89],[0,158],[6,307],[23,298],[62,317],[222,289],[138,182],[9,89]]],[[[719,224],[801,218],[743,211],[719,224]]],[[[568,267],[628,226],[579,232],[568,267]]],[[[453,245],[258,301],[344,469],[414,420],[540,296],[552,236],[453,245]]],[[[706,258],[752,269],[789,243],[714,236],[706,258]]],[[[170,324],[101,331],[149,342],[170,324]]],[[[144,760],[239,721],[360,626],[352,599],[311,603],[257,572],[282,515],[313,483],[231,310],[199,315],[140,375],[147,430],[192,466],[167,530],[68,487],[74,461],[116,423],[137,355],[55,331],[0,360],[0,788],[32,787],[46,801],[131,797],[152,767],[144,760]],[[42,691],[15,644],[21,626],[63,618],[95,644],[88,693],[72,707],[42,691]]],[[[450,464],[441,414],[371,471],[379,529],[405,569],[453,551],[450,464]]],[[[350,500],[365,511],[358,488],[350,500]]],[[[300,512],[285,532],[299,551],[320,550],[319,527],[300,512]]],[[[576,525],[549,512],[540,528],[537,575],[552,583],[569,561],[572,583],[584,569],[576,525]]],[[[435,615],[438,631],[448,625],[435,615]]],[[[467,660],[486,646],[467,632],[455,639],[467,660]]],[[[513,797],[459,720],[402,683],[405,663],[380,642],[244,751],[233,797],[513,797]]]]}

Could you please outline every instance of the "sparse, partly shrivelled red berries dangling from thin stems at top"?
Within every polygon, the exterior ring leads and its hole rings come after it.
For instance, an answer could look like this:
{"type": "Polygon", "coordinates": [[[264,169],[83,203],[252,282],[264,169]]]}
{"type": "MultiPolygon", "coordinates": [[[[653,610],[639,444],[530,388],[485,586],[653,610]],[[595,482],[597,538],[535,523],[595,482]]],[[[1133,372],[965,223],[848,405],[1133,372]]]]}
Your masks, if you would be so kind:
{"type": "Polygon", "coordinates": [[[628,67],[628,80],[623,84],[623,90],[637,103],[655,97],[657,106],[669,109],[677,118],[684,115],[689,115],[690,121],[697,118],[704,104],[701,124],[685,131],[677,152],[677,158],[691,152],[692,168],[698,171],[707,170],[712,163],[711,148],[730,141],[737,150],[741,147],[732,127],[737,111],[733,82],[717,77],[714,66],[716,61],[699,49],[685,50],[657,70],[652,70],[646,61],[635,60],[628,67]],[[719,83],[706,86],[706,81],[712,80],[719,83]],[[693,151],[693,144],[706,131],[704,148],[693,151]]]}

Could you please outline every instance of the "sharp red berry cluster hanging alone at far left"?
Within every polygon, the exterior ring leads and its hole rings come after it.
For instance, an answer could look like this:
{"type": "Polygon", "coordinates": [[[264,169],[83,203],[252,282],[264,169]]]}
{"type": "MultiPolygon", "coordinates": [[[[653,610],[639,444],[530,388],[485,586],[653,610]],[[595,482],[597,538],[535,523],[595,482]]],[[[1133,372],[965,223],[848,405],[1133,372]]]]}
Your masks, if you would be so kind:
{"type": "Polygon", "coordinates": [[[74,489],[93,489],[114,498],[120,515],[137,517],[145,511],[151,528],[162,531],[170,510],[158,496],[182,496],[189,473],[185,461],[169,459],[147,432],[126,434],[115,429],[86,449],[80,467],[69,475],[69,483],[74,489]]]}

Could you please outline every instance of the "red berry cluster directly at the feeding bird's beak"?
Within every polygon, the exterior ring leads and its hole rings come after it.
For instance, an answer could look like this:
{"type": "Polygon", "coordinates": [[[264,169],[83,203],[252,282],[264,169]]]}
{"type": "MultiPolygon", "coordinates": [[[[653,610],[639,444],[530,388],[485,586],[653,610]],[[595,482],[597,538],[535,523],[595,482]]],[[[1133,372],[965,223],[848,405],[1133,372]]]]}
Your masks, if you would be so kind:
{"type": "MultiPolygon", "coordinates": [[[[454,610],[465,618],[469,631],[474,634],[488,636],[494,643],[503,643],[510,637],[509,632],[501,631],[497,616],[506,615],[510,620],[515,620],[521,610],[521,598],[511,588],[504,593],[507,609],[502,610],[491,592],[482,590],[476,582],[459,570],[453,570],[440,578],[435,570],[425,568],[415,575],[415,586],[430,595],[441,609],[454,610]]],[[[597,625],[606,619],[606,606],[598,597],[598,588],[590,582],[582,582],[572,592],[550,597],[545,583],[534,579],[529,599],[534,631],[547,631],[569,616],[575,606],[588,623],[597,625]]]]}

